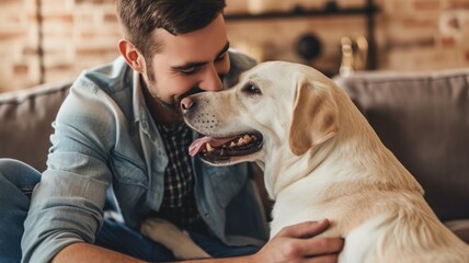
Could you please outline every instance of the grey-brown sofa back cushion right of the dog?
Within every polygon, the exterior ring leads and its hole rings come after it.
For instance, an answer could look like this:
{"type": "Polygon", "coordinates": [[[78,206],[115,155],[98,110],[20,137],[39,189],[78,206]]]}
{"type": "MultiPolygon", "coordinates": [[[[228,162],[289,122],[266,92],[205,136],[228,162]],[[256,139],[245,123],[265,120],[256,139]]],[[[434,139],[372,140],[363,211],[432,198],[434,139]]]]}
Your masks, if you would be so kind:
{"type": "Polygon", "coordinates": [[[441,220],[469,218],[469,69],[336,77],[441,220]]]}

